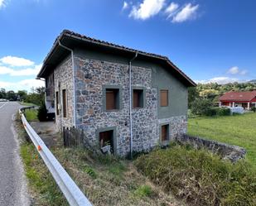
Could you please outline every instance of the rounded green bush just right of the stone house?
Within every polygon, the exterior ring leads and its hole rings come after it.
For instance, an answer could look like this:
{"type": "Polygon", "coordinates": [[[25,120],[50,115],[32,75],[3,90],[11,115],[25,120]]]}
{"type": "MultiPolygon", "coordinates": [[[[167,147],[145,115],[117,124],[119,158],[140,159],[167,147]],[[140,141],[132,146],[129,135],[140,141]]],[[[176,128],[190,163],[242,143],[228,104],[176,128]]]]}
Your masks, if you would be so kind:
{"type": "Polygon", "coordinates": [[[196,98],[196,100],[191,103],[191,113],[196,115],[207,115],[211,113],[212,103],[208,99],[196,98]]]}

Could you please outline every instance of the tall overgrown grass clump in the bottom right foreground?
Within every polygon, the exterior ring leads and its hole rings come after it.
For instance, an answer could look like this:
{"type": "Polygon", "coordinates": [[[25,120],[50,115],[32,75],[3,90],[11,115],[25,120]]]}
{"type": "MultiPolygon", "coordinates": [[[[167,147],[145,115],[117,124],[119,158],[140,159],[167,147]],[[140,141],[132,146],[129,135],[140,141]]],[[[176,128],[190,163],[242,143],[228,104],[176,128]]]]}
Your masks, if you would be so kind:
{"type": "Polygon", "coordinates": [[[244,160],[232,165],[209,151],[171,146],[138,157],[135,165],[191,205],[256,205],[256,176],[244,160]]]}

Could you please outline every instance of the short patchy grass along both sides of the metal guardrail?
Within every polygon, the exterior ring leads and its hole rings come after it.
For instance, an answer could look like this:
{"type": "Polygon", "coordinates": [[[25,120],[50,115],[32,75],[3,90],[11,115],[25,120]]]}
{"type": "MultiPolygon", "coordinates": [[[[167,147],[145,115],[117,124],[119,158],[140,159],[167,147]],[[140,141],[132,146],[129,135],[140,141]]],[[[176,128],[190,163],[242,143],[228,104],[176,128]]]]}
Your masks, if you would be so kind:
{"type": "MultiPolygon", "coordinates": [[[[26,141],[21,122],[17,124],[32,205],[68,205],[35,147],[26,141]]],[[[57,145],[50,148],[52,153],[94,206],[185,205],[138,173],[130,160],[57,145]]]]}

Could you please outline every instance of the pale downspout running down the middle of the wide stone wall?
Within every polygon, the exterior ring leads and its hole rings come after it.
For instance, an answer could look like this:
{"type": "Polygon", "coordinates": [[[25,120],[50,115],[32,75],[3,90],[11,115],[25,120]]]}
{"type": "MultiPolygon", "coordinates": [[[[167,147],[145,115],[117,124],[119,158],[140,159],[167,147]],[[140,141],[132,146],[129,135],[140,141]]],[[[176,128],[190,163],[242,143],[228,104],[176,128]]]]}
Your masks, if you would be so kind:
{"type": "Polygon", "coordinates": [[[129,103],[130,103],[130,157],[133,159],[133,94],[132,94],[132,61],[135,60],[138,56],[138,51],[136,51],[135,56],[133,57],[132,60],[129,61],[129,103]]]}

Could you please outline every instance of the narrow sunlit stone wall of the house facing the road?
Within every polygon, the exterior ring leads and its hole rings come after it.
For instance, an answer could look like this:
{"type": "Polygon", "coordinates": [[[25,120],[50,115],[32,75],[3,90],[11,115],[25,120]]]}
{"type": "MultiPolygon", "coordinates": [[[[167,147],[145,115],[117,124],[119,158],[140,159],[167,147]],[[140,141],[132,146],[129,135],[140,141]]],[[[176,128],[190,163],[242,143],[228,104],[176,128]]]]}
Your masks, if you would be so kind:
{"type": "MultiPolygon", "coordinates": [[[[55,78],[55,93],[59,91],[60,103],[62,105],[62,89],[66,89],[67,96],[67,117],[62,117],[62,108],[60,114],[56,115],[56,125],[60,130],[61,127],[72,127],[73,126],[73,108],[74,108],[74,88],[73,88],[73,69],[72,60],[70,55],[63,60],[60,65],[54,69],[55,78]],[[58,82],[60,89],[58,88],[58,82]]],[[[55,94],[56,95],[56,94],[55,94]]],[[[56,101],[56,98],[55,98],[56,101]]],[[[56,102],[55,102],[56,104],[56,102]]],[[[56,106],[57,108],[57,106],[56,106]]]]}

